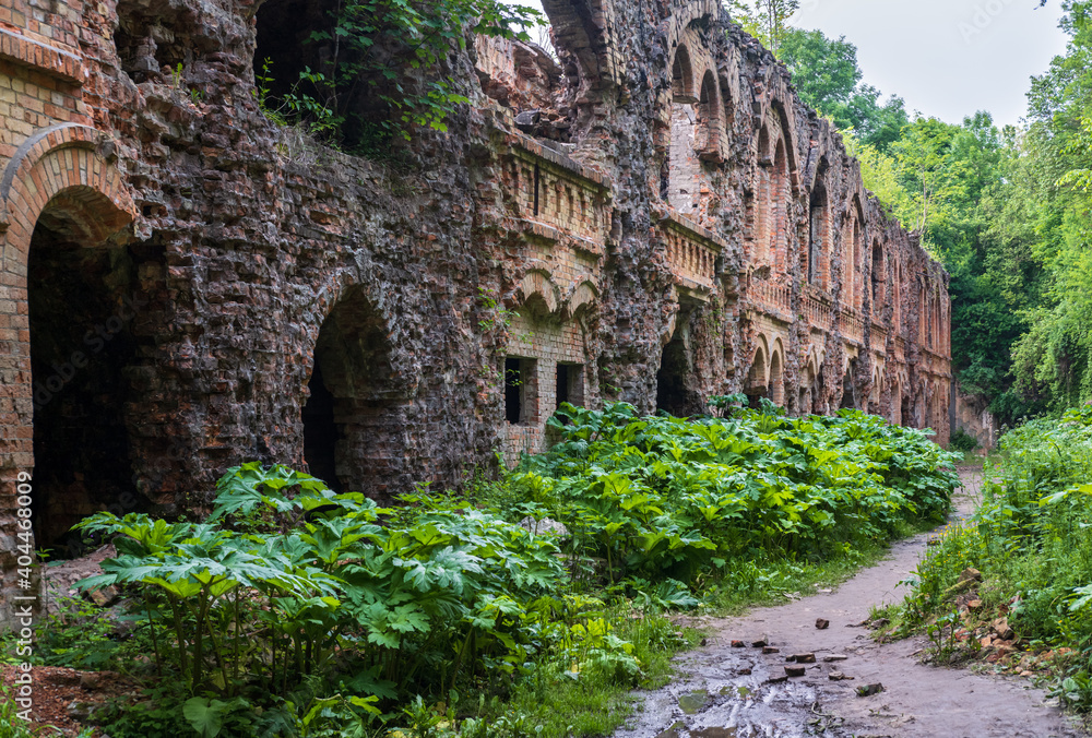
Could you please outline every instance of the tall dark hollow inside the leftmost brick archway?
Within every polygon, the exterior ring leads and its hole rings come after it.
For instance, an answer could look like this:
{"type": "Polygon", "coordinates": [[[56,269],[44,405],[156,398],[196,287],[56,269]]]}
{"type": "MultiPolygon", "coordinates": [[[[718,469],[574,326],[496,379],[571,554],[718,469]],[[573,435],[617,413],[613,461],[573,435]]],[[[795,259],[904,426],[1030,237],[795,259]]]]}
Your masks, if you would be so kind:
{"type": "Polygon", "coordinates": [[[146,346],[134,335],[146,298],[138,273],[162,248],[94,242],[93,214],[47,206],[27,255],[34,410],[34,533],[54,558],[83,554],[72,525],[97,511],[147,510],[131,433],[132,381],[146,346]]]}

